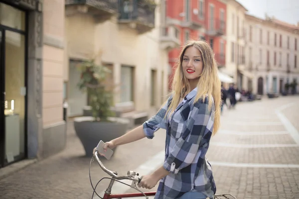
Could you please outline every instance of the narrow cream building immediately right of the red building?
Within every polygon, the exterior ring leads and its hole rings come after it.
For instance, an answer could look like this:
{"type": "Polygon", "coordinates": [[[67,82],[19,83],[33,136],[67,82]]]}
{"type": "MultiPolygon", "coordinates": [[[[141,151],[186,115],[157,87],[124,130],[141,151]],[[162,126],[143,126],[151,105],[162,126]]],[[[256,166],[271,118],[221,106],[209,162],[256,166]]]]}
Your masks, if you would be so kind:
{"type": "Polygon", "coordinates": [[[245,12],[248,11],[236,0],[226,2],[226,56],[222,72],[230,75],[239,89],[242,79],[251,77],[245,69],[245,12]]]}

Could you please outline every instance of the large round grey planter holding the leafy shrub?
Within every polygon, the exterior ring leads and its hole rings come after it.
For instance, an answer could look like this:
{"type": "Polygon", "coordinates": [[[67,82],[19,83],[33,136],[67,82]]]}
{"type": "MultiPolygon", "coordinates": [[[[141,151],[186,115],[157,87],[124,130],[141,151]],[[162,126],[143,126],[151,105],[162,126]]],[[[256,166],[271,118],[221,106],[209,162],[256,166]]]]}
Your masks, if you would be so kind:
{"type": "Polygon", "coordinates": [[[93,149],[100,140],[108,142],[127,132],[130,122],[128,119],[110,117],[109,120],[107,122],[94,121],[91,116],[74,118],[74,128],[87,157],[92,157],[93,149]]]}

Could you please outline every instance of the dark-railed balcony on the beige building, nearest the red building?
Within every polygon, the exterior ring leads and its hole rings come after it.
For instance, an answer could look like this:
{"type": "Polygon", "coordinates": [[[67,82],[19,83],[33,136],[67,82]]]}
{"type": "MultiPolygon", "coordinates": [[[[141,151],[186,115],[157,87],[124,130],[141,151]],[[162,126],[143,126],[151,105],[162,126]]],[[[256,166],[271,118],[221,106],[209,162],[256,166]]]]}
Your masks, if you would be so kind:
{"type": "Polygon", "coordinates": [[[155,4],[151,3],[151,0],[119,0],[118,2],[119,24],[134,28],[139,34],[154,28],[155,4]]]}

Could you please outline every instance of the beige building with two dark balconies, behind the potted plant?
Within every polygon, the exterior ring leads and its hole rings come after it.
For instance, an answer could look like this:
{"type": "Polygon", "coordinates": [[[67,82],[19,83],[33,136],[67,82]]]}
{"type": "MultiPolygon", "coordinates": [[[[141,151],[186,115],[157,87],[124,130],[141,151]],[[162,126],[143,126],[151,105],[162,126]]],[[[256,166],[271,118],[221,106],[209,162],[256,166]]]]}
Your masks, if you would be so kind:
{"type": "MultiPolygon", "coordinates": [[[[160,6],[137,0],[106,0],[101,6],[66,1],[65,87],[68,115],[79,116],[88,105],[77,88],[76,64],[100,54],[97,61],[112,70],[117,85],[115,108],[127,114],[148,115],[167,95],[168,45],[160,42],[160,6]],[[105,2],[105,3],[104,3],[105,2]]],[[[159,4],[159,0],[156,0],[159,4]]]]}

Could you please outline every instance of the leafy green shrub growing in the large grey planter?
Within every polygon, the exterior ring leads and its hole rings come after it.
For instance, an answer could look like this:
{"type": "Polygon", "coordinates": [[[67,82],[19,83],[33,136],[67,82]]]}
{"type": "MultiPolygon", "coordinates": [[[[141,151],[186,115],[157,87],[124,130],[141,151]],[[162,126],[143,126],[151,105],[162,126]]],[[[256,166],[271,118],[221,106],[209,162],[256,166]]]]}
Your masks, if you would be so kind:
{"type": "Polygon", "coordinates": [[[113,116],[110,107],[113,105],[113,87],[107,81],[111,71],[102,65],[97,65],[94,59],[78,64],[81,79],[78,83],[80,91],[87,92],[92,115],[97,121],[108,121],[113,116]]]}

